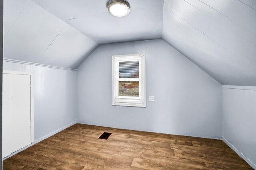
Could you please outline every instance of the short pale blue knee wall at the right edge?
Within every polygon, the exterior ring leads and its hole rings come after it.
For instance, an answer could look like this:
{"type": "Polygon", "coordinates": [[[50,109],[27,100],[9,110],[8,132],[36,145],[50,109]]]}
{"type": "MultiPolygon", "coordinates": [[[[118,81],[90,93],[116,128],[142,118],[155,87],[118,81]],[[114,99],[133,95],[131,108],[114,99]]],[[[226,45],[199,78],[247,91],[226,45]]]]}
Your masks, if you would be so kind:
{"type": "Polygon", "coordinates": [[[256,87],[223,88],[223,140],[256,168],[256,87]],[[243,90],[243,89],[248,90],[243,90]]]}

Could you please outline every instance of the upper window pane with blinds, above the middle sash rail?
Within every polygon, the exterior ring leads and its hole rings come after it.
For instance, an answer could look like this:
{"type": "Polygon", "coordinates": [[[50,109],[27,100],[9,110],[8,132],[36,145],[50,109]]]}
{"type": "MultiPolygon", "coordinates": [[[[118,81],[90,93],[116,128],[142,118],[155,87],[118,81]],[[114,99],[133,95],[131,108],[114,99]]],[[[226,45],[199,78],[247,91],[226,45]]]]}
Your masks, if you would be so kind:
{"type": "Polygon", "coordinates": [[[140,62],[125,61],[119,62],[119,78],[139,78],[140,62]]]}

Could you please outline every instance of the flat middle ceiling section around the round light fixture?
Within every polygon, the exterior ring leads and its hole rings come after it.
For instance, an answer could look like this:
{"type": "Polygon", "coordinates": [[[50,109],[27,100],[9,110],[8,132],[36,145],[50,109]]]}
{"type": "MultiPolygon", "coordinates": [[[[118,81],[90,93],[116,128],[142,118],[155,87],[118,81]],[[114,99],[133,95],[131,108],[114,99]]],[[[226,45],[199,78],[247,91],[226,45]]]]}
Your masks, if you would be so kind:
{"type": "Polygon", "coordinates": [[[162,38],[164,0],[128,0],[121,18],[108,13],[108,0],[33,1],[99,44],[162,38]]]}

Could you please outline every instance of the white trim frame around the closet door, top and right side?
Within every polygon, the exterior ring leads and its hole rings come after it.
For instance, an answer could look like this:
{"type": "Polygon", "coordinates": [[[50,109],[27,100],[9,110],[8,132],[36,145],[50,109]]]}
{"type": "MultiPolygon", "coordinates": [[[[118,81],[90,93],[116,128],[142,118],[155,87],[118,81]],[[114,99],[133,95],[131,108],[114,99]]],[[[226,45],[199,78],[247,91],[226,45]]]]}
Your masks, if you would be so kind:
{"type": "Polygon", "coordinates": [[[30,76],[30,121],[31,121],[31,143],[35,140],[34,134],[34,74],[32,72],[20,72],[3,70],[3,74],[21,74],[30,76]]]}

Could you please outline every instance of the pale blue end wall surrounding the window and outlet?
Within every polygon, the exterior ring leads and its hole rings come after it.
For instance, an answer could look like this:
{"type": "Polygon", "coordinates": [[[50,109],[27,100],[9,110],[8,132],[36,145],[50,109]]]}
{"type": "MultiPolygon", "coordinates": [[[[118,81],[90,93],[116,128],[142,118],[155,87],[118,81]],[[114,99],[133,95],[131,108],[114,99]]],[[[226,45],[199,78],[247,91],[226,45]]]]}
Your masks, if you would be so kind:
{"type": "Polygon", "coordinates": [[[81,123],[222,137],[222,86],[164,40],[102,45],[77,70],[81,123]],[[146,53],[147,107],[112,106],[112,55],[146,53]],[[148,97],[155,96],[154,102],[148,97]]]}

